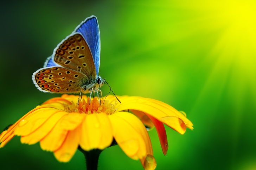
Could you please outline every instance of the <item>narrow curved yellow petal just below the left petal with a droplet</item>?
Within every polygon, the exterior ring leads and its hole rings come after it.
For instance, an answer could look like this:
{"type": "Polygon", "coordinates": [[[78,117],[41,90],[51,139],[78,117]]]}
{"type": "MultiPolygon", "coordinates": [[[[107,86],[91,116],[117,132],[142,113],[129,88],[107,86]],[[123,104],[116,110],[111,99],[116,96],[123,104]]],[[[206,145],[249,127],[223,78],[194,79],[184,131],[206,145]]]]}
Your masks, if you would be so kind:
{"type": "Polygon", "coordinates": [[[27,143],[27,144],[37,143],[43,137],[45,137],[56,125],[56,123],[60,120],[60,118],[62,118],[66,114],[70,114],[70,113],[66,113],[65,111],[58,111],[57,113],[53,114],[46,122],[44,122],[44,124],[42,124],[39,128],[35,129],[31,134],[22,136],[20,139],[21,143],[27,143]]]}

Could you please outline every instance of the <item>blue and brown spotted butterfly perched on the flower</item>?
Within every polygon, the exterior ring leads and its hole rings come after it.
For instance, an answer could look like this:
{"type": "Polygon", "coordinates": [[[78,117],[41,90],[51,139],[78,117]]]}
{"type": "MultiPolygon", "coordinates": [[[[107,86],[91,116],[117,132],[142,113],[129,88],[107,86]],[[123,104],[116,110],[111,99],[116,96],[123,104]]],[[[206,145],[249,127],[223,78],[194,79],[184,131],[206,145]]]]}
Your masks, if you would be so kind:
{"type": "Polygon", "coordinates": [[[98,75],[100,49],[98,20],[92,15],[58,44],[44,68],[33,73],[35,86],[49,93],[80,93],[78,102],[83,93],[90,93],[91,98],[92,92],[97,92],[99,97],[100,88],[108,84],[98,75]]]}

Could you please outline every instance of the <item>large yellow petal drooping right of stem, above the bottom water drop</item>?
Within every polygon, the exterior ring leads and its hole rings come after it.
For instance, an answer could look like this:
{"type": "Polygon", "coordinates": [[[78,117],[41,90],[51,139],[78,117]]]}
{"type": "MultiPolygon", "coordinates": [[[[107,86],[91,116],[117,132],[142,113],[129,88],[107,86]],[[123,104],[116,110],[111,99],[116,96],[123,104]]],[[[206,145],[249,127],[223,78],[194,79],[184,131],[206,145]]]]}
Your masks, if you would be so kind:
{"type": "Polygon", "coordinates": [[[147,149],[152,150],[148,132],[136,116],[119,112],[110,115],[109,119],[114,138],[127,156],[132,159],[141,159],[146,156],[147,149]]]}

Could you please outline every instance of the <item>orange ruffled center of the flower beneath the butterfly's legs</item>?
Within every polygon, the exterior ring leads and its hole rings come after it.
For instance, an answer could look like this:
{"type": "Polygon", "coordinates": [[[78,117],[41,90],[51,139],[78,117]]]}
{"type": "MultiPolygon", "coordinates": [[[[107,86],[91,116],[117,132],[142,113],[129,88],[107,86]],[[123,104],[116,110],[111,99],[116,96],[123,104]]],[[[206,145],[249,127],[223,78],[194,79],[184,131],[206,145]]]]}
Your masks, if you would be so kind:
{"type": "Polygon", "coordinates": [[[69,113],[84,113],[84,114],[93,114],[93,113],[106,113],[111,115],[115,111],[115,105],[111,104],[108,100],[102,101],[100,104],[98,97],[91,98],[87,97],[87,101],[79,101],[79,105],[72,101],[72,104],[67,104],[65,106],[65,111],[69,113]],[[90,103],[90,104],[89,104],[90,103]]]}

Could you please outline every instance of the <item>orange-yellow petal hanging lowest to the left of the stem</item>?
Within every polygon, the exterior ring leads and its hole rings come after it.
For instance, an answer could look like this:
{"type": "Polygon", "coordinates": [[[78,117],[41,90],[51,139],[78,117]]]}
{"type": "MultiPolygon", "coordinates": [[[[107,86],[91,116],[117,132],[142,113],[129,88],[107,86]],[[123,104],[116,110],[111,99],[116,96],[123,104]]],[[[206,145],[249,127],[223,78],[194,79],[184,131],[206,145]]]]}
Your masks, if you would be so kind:
{"type": "Polygon", "coordinates": [[[75,130],[68,131],[68,135],[63,142],[62,146],[54,151],[54,156],[60,162],[68,162],[75,154],[78,143],[81,136],[81,125],[79,125],[75,130]]]}

